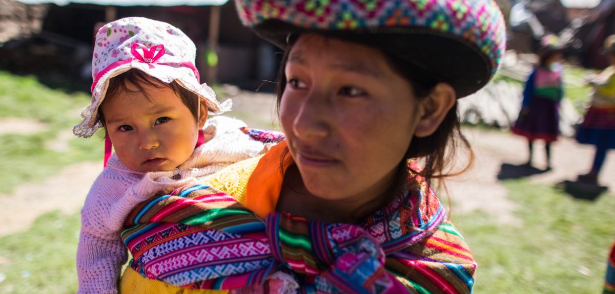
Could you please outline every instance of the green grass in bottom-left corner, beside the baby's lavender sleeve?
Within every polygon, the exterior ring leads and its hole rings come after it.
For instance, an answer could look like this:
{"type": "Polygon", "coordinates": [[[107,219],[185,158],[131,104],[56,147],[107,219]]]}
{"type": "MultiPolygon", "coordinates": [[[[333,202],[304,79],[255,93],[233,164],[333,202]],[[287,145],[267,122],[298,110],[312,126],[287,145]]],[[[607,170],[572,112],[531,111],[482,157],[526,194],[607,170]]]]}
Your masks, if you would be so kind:
{"type": "Polygon", "coordinates": [[[79,214],[42,215],[22,233],[0,237],[0,293],[75,293],[79,214]]]}

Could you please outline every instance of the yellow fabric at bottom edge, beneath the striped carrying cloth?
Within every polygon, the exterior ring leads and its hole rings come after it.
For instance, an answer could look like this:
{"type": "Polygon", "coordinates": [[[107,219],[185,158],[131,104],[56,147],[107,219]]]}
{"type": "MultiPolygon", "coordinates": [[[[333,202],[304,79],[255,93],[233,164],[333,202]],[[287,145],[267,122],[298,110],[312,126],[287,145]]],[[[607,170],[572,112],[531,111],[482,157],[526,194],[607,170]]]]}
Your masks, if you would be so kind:
{"type": "Polygon", "coordinates": [[[178,288],[159,280],[141,276],[132,268],[126,268],[119,280],[119,293],[122,294],[226,294],[229,290],[189,290],[178,288]]]}

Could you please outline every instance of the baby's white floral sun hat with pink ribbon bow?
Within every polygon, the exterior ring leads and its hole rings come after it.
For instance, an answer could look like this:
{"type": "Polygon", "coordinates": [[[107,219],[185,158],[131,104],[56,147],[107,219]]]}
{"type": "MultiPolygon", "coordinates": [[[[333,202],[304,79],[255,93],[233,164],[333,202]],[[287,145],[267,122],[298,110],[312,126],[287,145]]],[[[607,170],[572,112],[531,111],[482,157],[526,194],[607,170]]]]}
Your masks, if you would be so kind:
{"type": "Polygon", "coordinates": [[[98,106],[105,99],[109,79],[138,69],[165,83],[173,81],[195,93],[212,114],[230,110],[220,104],[212,88],[199,82],[194,66],[196,47],[175,26],[143,17],[127,17],[106,24],[96,34],[92,56],[92,103],[81,112],[84,120],[73,128],[79,137],[90,137],[100,128],[98,106]]]}

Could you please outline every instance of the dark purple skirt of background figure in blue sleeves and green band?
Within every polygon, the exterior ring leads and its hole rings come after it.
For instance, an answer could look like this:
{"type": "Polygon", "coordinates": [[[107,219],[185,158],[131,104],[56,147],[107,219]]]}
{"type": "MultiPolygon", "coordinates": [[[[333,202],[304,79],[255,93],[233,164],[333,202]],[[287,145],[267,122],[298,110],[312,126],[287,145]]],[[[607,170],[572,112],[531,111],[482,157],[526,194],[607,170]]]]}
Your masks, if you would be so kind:
{"type": "MultiPolygon", "coordinates": [[[[527,114],[520,113],[512,133],[530,140],[557,140],[560,134],[560,103],[549,98],[534,97],[527,114]]],[[[523,109],[522,109],[523,112],[523,109]]]]}

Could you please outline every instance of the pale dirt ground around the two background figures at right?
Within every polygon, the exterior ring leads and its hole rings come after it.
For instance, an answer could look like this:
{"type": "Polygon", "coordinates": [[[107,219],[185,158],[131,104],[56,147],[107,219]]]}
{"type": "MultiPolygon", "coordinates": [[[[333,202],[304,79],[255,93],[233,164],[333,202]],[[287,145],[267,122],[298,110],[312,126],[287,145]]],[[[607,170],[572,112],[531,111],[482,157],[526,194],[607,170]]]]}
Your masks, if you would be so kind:
{"type": "MultiPolygon", "coordinates": [[[[552,144],[552,169],[541,171],[546,168],[546,153],[541,141],[534,144],[533,165],[537,169],[528,169],[522,166],[528,160],[525,138],[475,128],[465,129],[464,134],[476,157],[469,171],[447,182],[455,203],[453,217],[480,209],[502,222],[518,224],[512,214],[515,204],[507,198],[507,190],[498,177],[510,179],[522,177],[524,172],[536,172],[528,176],[531,182],[556,185],[566,180],[575,181],[579,174],[589,171],[593,161],[592,145],[580,145],[574,139],[560,137],[552,144]]],[[[610,151],[607,155],[598,182],[611,194],[615,191],[615,152],[610,151]]]]}

